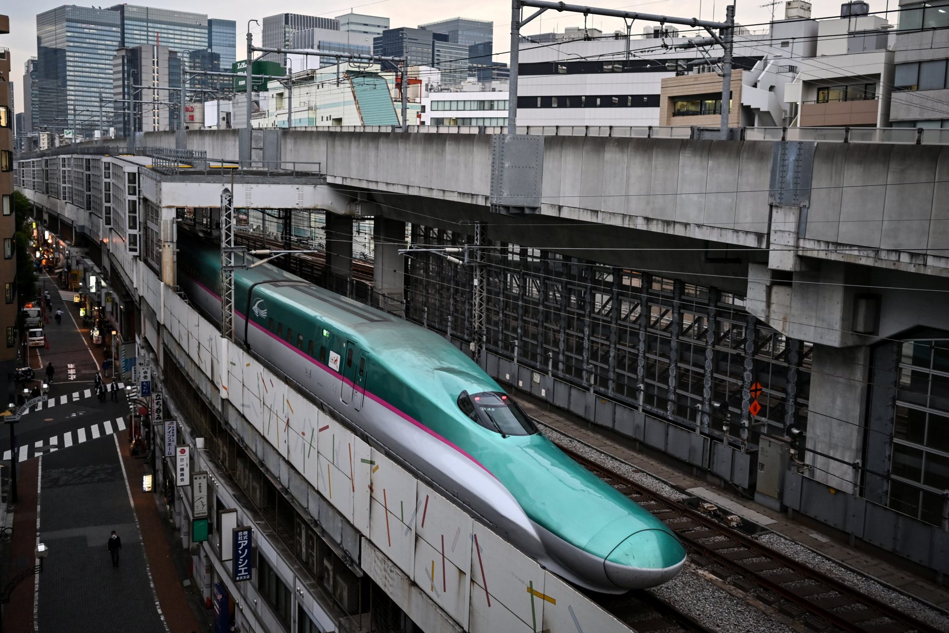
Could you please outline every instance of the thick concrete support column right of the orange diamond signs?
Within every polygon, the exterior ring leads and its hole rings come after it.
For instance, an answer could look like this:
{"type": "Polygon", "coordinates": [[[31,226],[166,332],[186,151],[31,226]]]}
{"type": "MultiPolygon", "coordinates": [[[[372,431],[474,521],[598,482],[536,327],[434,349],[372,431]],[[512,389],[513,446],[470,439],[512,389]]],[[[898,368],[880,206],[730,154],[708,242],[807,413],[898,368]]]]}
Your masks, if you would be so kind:
{"type": "Polygon", "coordinates": [[[852,493],[863,455],[870,348],[814,345],[805,461],[810,476],[852,493]]]}

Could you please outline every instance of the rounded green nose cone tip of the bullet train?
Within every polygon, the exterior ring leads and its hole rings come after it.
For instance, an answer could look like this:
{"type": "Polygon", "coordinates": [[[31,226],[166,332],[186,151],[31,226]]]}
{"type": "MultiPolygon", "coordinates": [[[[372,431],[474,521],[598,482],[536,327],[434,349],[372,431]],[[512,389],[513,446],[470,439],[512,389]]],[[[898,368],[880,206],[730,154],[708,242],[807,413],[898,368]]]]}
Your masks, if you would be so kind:
{"type": "Polygon", "coordinates": [[[642,589],[672,580],[685,563],[685,549],[666,531],[627,536],[604,561],[606,578],[623,589],[642,589]]]}

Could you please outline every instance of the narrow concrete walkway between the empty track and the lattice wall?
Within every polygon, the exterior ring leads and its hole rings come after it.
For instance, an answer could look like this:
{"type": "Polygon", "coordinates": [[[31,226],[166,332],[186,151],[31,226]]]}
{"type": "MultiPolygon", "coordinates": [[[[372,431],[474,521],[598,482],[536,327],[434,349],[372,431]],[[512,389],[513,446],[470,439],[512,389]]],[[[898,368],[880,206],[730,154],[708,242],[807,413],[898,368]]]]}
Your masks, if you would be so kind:
{"type": "MultiPolygon", "coordinates": [[[[904,568],[891,565],[882,558],[874,556],[873,553],[851,548],[847,544],[835,540],[837,534],[834,534],[830,528],[821,526],[806,517],[803,521],[789,519],[782,512],[774,512],[770,508],[754,503],[754,501],[735,495],[728,489],[714,489],[704,478],[686,475],[682,470],[669,465],[669,463],[664,463],[659,459],[645,456],[628,448],[628,446],[632,446],[633,440],[623,438],[605,429],[601,430],[599,427],[587,423],[586,420],[578,419],[568,412],[548,410],[546,406],[538,404],[537,400],[532,400],[523,394],[520,395],[517,402],[528,415],[541,420],[564,435],[586,442],[586,444],[608,455],[636,466],[644,473],[660,477],[681,491],[705,488],[716,496],[726,497],[732,503],[771,519],[773,523],[769,523],[767,527],[791,539],[791,541],[841,561],[865,575],[872,576],[887,585],[895,586],[925,602],[942,609],[949,609],[949,591],[945,588],[924,580],[904,568]]],[[[680,468],[691,467],[681,466],[680,468]]],[[[866,549],[872,548],[869,545],[865,547],[866,549]]],[[[909,563],[907,563],[908,565],[909,563]]]]}

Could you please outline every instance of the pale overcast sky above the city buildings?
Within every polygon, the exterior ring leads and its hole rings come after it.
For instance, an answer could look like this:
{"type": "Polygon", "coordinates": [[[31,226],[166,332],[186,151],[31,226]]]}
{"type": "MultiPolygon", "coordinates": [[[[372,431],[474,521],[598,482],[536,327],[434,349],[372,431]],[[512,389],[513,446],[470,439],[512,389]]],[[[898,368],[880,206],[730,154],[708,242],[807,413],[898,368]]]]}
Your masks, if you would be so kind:
{"type": "MultiPolygon", "coordinates": [[[[359,2],[359,0],[350,1],[359,2]]],[[[573,1],[581,4],[580,0],[573,1]]],[[[698,17],[703,20],[724,20],[725,5],[728,4],[727,0],[642,0],[633,4],[624,4],[628,1],[601,0],[593,6],[603,9],[623,9],[680,17],[698,17]]],[[[470,4],[452,0],[375,0],[374,2],[355,4],[351,7],[345,6],[343,2],[344,0],[326,0],[326,2],[321,2],[319,6],[316,6],[315,3],[305,2],[304,0],[282,0],[272,3],[261,3],[259,0],[228,0],[227,2],[221,2],[220,0],[205,0],[204,2],[201,0],[161,0],[160,2],[153,0],[148,2],[146,0],[129,4],[197,11],[207,13],[209,17],[213,18],[235,20],[237,22],[238,49],[245,42],[248,20],[262,21],[265,15],[271,15],[277,11],[335,17],[353,9],[358,13],[386,16],[390,18],[392,27],[416,27],[419,24],[457,16],[476,20],[492,20],[494,23],[494,51],[501,53],[495,55],[494,60],[507,62],[506,52],[510,49],[511,42],[511,4],[509,1],[479,0],[474,4],[470,4]],[[263,7],[267,7],[266,12],[263,7]],[[314,11],[319,12],[314,13],[314,11]],[[410,17],[406,18],[405,16],[410,17]]],[[[765,2],[766,0],[754,0],[752,4],[737,3],[735,20],[746,26],[759,25],[751,27],[753,29],[767,28],[767,23],[772,15],[772,7],[765,5],[765,2]]],[[[0,11],[9,14],[10,32],[9,35],[0,35],[0,47],[10,49],[10,74],[12,75],[10,79],[14,82],[16,89],[16,111],[22,112],[23,67],[28,58],[36,55],[36,14],[66,3],[62,0],[33,0],[32,2],[10,0],[2,4],[5,6],[0,8],[0,11]]],[[[813,17],[830,17],[839,14],[841,1],[812,0],[811,4],[813,5],[811,11],[813,17]]],[[[898,0],[870,0],[869,4],[871,11],[882,11],[884,9],[896,9],[898,0]]],[[[109,7],[111,4],[95,6],[109,7]]],[[[774,7],[774,16],[777,19],[784,17],[783,2],[774,7]]],[[[896,22],[896,16],[897,14],[893,13],[890,21],[896,22]]],[[[647,24],[644,22],[634,24],[633,33],[642,33],[642,27],[647,24]]],[[[552,30],[562,31],[565,27],[583,26],[583,15],[557,13],[549,10],[530,23],[524,31],[530,34],[552,30]]],[[[601,28],[606,32],[625,28],[623,20],[619,18],[603,18],[600,16],[587,18],[586,26],[601,28]]],[[[254,44],[259,46],[260,27],[251,25],[251,32],[254,35],[254,44]]],[[[240,53],[237,55],[237,59],[244,57],[245,55],[240,53]]]]}

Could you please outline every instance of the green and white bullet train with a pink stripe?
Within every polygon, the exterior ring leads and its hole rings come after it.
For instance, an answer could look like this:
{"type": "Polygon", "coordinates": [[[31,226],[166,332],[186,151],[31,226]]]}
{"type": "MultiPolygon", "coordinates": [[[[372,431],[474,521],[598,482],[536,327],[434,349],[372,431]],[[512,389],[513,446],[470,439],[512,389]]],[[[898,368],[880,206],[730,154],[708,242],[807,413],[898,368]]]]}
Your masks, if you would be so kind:
{"type": "MultiPolygon", "coordinates": [[[[184,233],[178,283],[219,315],[219,251],[184,233]]],[[[605,593],[679,573],[685,550],[661,521],[539,434],[497,382],[436,333],[268,265],[237,271],[234,299],[235,336],[251,351],[546,568],[605,593]]]]}

